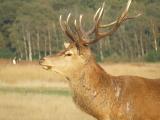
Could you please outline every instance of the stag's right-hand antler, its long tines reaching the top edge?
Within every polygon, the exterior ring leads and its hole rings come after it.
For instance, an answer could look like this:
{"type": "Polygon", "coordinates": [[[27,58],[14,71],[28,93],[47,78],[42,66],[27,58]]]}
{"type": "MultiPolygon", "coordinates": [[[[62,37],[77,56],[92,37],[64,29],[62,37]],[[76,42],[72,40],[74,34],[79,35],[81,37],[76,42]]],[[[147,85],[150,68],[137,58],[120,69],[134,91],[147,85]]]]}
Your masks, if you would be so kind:
{"type": "Polygon", "coordinates": [[[113,21],[109,24],[101,25],[100,21],[102,20],[102,17],[103,17],[104,5],[105,5],[103,3],[102,7],[99,8],[94,15],[94,18],[93,18],[94,23],[95,23],[94,27],[91,29],[91,31],[89,31],[87,33],[88,35],[90,35],[92,33],[95,33],[95,39],[92,40],[92,41],[86,42],[86,44],[96,43],[97,41],[101,40],[101,38],[112,35],[124,21],[139,17],[141,14],[137,14],[137,15],[132,16],[132,17],[127,16],[129,7],[131,5],[131,2],[132,2],[132,0],[128,0],[128,3],[127,3],[127,6],[126,6],[125,10],[117,18],[117,20],[115,20],[115,21],[113,21]],[[112,27],[109,32],[99,32],[99,28],[107,28],[107,27],[112,27]]]}

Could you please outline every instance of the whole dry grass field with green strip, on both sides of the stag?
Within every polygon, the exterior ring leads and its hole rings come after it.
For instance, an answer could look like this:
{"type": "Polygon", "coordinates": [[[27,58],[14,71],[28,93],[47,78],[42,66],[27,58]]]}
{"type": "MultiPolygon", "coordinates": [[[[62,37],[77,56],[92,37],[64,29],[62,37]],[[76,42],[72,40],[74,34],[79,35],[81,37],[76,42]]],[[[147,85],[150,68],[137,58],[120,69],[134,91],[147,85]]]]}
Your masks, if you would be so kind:
{"type": "MultiPolygon", "coordinates": [[[[160,78],[160,63],[101,64],[112,75],[160,78]]],[[[0,120],[95,120],[73,103],[64,78],[37,64],[0,62],[0,120]]]]}

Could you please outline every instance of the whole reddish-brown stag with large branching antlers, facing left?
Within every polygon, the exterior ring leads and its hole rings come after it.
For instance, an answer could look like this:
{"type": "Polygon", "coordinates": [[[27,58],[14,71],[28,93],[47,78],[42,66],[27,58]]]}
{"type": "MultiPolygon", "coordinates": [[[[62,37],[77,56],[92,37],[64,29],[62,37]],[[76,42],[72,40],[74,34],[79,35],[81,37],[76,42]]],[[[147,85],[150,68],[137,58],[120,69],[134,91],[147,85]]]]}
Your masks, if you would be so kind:
{"type": "Polygon", "coordinates": [[[131,1],[117,20],[106,25],[101,24],[103,4],[96,11],[94,26],[88,32],[82,27],[82,15],[72,27],[69,26],[71,14],[65,21],[60,16],[60,26],[70,43],[55,56],[40,60],[44,69],[53,70],[68,80],[74,102],[98,120],[160,120],[160,80],[109,75],[96,63],[88,47],[112,35],[126,20],[140,15],[128,17],[131,1]],[[110,31],[99,30],[108,27],[110,31]]]}

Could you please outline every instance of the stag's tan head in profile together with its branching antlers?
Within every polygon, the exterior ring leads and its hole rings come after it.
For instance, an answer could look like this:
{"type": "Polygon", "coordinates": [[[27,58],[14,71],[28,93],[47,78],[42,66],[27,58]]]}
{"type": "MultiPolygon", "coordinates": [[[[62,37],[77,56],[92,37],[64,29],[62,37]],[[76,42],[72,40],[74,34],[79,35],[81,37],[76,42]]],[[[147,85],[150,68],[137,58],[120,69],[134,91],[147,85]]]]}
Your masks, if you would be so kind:
{"type": "Polygon", "coordinates": [[[89,45],[98,42],[106,36],[112,35],[124,21],[140,16],[140,14],[138,14],[133,17],[128,17],[131,2],[132,0],[129,0],[123,13],[109,24],[101,24],[104,14],[103,3],[93,17],[93,27],[87,32],[82,27],[83,15],[80,15],[78,20],[74,20],[72,27],[70,27],[71,24],[69,23],[71,14],[68,15],[66,20],[62,20],[62,16],[60,16],[60,26],[62,31],[68,36],[70,42],[65,44],[65,49],[56,55],[42,58],[40,65],[46,70],[53,70],[65,77],[69,77],[70,74],[80,71],[86,64],[94,60],[89,45]],[[100,29],[104,28],[109,28],[110,30],[102,32],[100,29]],[[94,35],[94,39],[90,39],[91,35],[92,38],[94,35]]]}

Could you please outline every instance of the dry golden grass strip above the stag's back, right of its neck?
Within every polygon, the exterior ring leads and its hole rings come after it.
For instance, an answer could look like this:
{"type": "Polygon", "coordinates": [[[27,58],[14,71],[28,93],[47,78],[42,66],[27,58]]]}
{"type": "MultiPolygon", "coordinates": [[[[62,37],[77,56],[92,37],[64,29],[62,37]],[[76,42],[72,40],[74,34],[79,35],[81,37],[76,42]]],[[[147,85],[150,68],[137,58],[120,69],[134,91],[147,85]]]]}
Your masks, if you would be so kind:
{"type": "Polygon", "coordinates": [[[112,75],[136,75],[151,79],[160,78],[160,63],[118,63],[102,64],[112,75]]]}

